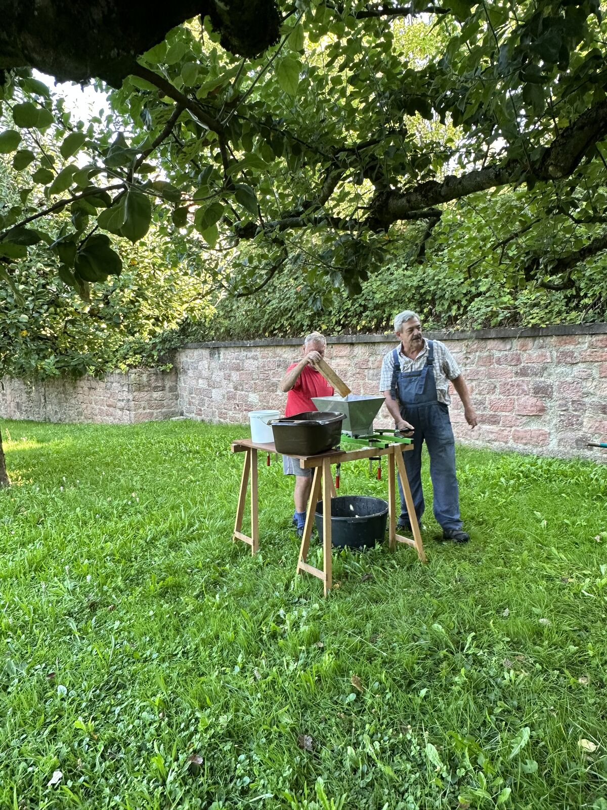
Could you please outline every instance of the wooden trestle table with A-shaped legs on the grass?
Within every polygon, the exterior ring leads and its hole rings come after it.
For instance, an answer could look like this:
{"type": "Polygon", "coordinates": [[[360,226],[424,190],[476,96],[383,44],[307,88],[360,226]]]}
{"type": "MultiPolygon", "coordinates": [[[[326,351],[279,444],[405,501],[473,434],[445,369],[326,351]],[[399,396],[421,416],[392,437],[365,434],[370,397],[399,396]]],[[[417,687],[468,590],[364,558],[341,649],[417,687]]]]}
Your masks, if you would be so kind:
{"type": "MultiPolygon", "coordinates": [[[[304,535],[301,539],[299,549],[299,560],[297,562],[297,573],[311,573],[312,576],[322,580],[325,588],[325,596],[333,586],[331,567],[331,498],[337,495],[333,484],[331,472],[332,464],[344,464],[350,461],[357,461],[359,458],[378,458],[387,456],[388,458],[388,541],[389,548],[393,551],[397,543],[405,543],[413,546],[418,552],[418,557],[422,562],[426,562],[426,554],[423,550],[422,535],[419,533],[418,519],[415,515],[413,498],[409,480],[405,471],[405,463],[402,458],[403,452],[413,450],[413,445],[402,445],[399,442],[388,444],[386,447],[363,447],[355,450],[328,450],[326,453],[316,455],[296,455],[302,467],[312,467],[314,475],[312,477],[312,492],[308,501],[306,512],[306,522],[304,535]],[[396,499],[396,469],[401,476],[403,491],[405,492],[405,504],[409,513],[411,532],[413,537],[397,535],[397,519],[394,508],[396,499]],[[322,500],[323,507],[323,569],[308,565],[308,549],[310,548],[310,537],[314,526],[314,512],[316,503],[322,500]]],[[[232,442],[232,453],[244,453],[244,464],[242,478],[240,480],[240,494],[238,497],[238,507],[236,509],[236,522],[234,524],[234,535],[232,540],[242,540],[251,546],[251,553],[256,554],[259,548],[259,511],[258,511],[258,475],[257,475],[257,452],[276,453],[274,443],[261,443],[252,439],[239,439],[232,442]],[[250,503],[251,503],[251,535],[246,535],[242,531],[244,519],[244,506],[250,482],[250,503]]]]}

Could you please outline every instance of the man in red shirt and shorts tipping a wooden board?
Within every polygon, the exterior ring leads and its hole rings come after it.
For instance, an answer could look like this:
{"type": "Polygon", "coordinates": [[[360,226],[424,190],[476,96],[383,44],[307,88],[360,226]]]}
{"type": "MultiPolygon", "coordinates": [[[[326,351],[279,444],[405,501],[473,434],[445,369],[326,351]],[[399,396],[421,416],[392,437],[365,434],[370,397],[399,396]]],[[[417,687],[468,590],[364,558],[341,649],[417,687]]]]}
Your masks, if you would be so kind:
{"type": "MultiPolygon", "coordinates": [[[[307,335],[302,347],[303,358],[299,360],[299,363],[291,363],[287,373],[282,377],[280,390],[287,394],[285,416],[316,411],[317,408],[312,402],[312,397],[333,396],[332,386],[329,386],[325,377],[314,368],[316,360],[325,356],[326,347],[327,341],[324,335],[320,335],[320,332],[312,332],[311,335],[307,335]]],[[[312,469],[301,467],[299,459],[291,458],[291,456],[282,457],[282,468],[285,475],[295,475],[293,525],[297,527],[298,535],[303,535],[308,499],[312,491],[312,469]]]]}

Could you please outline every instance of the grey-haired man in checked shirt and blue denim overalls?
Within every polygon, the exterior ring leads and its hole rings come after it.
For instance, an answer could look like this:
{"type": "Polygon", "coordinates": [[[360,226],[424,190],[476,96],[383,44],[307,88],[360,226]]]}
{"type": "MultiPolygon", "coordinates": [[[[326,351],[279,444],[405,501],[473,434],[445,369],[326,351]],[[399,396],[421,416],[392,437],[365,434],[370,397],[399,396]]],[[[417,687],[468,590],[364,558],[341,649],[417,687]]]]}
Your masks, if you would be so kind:
{"type": "MultiPolygon", "coordinates": [[[[418,316],[407,310],[394,318],[394,331],[401,345],[384,356],[380,390],[399,430],[414,431],[414,450],[403,454],[418,522],[424,510],[422,492],[422,444],[430,455],[430,476],[434,491],[434,514],[443,528],[443,539],[466,543],[460,518],[460,495],[455,468],[455,439],[449,419],[449,382],[464,405],[471,428],[478,424],[470,403],[468,386],[451,352],[439,340],[422,337],[418,316]]],[[[398,526],[410,530],[401,480],[401,518],[398,526]]]]}

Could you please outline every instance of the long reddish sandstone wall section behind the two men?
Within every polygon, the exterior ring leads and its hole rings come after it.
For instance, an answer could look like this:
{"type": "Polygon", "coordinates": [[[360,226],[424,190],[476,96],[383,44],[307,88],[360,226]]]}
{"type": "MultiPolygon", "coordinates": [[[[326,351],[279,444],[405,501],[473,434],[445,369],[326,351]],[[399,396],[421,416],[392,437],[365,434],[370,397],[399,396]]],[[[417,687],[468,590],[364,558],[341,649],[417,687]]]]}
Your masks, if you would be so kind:
{"type": "MultiPolygon", "coordinates": [[[[607,325],[426,333],[461,364],[479,427],[465,423],[452,394],[458,440],[557,456],[605,460],[587,441],[607,441],[607,325]]],[[[381,358],[396,345],[378,335],[329,338],[326,360],[355,394],[376,394],[381,358]]],[[[248,422],[248,411],[284,409],[278,381],[299,357],[294,340],[193,343],[178,353],[184,416],[248,422]]],[[[388,427],[385,407],[376,426],[388,427]]]]}

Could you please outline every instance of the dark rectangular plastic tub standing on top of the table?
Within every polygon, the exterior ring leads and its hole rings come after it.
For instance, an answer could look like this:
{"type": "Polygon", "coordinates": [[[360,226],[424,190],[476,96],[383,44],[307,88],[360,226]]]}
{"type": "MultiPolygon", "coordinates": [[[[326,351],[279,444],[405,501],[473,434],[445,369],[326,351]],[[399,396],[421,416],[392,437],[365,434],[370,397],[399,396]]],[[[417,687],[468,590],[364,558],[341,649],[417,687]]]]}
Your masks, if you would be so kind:
{"type": "Polygon", "coordinates": [[[315,455],[337,447],[345,416],[333,411],[304,411],[295,416],[274,419],[272,425],[276,452],[285,455],[315,455]]]}

